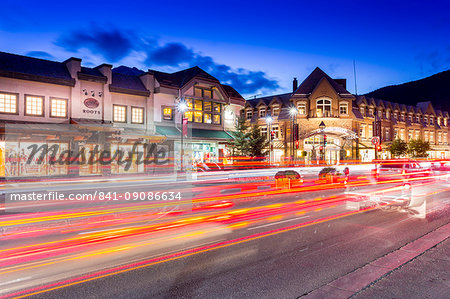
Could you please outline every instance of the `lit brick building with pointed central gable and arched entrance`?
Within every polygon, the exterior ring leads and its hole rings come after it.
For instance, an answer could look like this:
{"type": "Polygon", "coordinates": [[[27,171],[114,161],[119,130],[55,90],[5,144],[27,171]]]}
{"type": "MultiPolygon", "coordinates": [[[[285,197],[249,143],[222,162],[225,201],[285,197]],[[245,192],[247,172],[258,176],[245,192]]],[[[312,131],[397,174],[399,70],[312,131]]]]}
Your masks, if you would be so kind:
{"type": "Polygon", "coordinates": [[[320,68],[297,85],[294,79],[292,93],[247,100],[243,110],[249,125],[259,126],[268,138],[272,134],[275,162],[386,159],[397,138],[429,141],[430,158],[450,158],[449,114],[435,110],[431,102],[408,106],[355,96],[347,91],[345,79],[332,79],[320,68]],[[293,137],[296,124],[298,142],[293,137]],[[375,126],[380,130],[377,151],[372,138],[375,126]]]}

